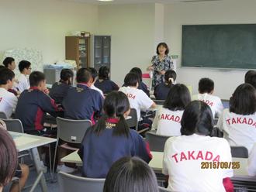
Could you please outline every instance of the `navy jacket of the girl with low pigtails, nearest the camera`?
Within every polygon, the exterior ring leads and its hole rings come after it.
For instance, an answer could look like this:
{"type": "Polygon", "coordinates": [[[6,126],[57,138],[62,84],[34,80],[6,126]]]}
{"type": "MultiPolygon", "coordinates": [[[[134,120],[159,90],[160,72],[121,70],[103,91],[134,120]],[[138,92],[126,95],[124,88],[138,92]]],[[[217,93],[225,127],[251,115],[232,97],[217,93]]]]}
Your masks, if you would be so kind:
{"type": "Polygon", "coordinates": [[[152,158],[144,139],[130,129],[126,135],[113,135],[116,119],[106,123],[99,135],[89,128],[78,151],[83,160],[82,174],[89,178],[105,178],[112,163],[124,156],[138,156],[146,163],[152,158]]]}

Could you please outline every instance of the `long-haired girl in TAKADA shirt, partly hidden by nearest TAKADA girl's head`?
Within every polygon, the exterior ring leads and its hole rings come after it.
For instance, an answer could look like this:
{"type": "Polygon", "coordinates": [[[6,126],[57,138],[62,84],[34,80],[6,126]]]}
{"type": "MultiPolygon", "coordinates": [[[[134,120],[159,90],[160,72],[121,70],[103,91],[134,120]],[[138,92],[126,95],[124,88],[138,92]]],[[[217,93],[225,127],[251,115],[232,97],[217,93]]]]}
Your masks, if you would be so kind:
{"type": "Polygon", "coordinates": [[[158,135],[181,135],[181,120],[185,106],[191,101],[189,89],[184,84],[171,86],[164,106],[157,110],[153,129],[158,135]]]}

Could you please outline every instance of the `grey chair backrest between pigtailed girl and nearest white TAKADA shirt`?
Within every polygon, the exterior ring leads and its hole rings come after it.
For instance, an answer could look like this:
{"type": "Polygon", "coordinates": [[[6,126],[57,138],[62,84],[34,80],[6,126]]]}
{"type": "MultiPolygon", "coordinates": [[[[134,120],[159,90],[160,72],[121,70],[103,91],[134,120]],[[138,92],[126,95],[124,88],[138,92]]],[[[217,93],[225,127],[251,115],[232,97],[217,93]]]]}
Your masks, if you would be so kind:
{"type": "Polygon", "coordinates": [[[164,144],[170,136],[157,135],[154,132],[146,132],[146,140],[151,151],[164,152],[164,144]]]}

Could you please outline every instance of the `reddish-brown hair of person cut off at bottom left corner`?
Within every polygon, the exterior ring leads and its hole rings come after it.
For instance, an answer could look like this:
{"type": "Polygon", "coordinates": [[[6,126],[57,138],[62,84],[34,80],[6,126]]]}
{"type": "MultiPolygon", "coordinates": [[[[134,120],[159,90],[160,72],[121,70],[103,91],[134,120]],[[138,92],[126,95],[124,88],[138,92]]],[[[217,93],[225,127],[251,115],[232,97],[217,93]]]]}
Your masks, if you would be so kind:
{"type": "Polygon", "coordinates": [[[16,145],[5,129],[0,129],[0,187],[4,187],[16,173],[18,153],[16,145]]]}

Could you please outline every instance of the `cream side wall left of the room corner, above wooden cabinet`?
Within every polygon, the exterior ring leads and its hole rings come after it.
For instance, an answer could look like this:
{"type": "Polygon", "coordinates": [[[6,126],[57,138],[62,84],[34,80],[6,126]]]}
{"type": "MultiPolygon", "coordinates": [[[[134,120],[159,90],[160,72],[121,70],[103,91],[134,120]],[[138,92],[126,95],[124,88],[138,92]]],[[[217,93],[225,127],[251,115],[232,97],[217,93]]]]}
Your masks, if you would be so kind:
{"type": "MultiPolygon", "coordinates": [[[[0,54],[13,48],[43,53],[43,63],[65,59],[65,36],[95,32],[98,6],[61,0],[1,0],[0,54]]],[[[1,59],[2,61],[2,59],[1,59]]]]}

